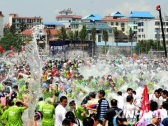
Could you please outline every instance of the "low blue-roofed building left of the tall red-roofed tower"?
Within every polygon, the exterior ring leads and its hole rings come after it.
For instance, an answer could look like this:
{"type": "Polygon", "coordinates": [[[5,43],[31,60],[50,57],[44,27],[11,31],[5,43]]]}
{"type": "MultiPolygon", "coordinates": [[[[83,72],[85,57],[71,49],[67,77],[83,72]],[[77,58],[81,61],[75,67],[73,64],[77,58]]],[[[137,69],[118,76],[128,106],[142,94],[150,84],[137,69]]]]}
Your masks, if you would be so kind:
{"type": "Polygon", "coordinates": [[[64,27],[62,22],[43,22],[44,28],[51,28],[51,29],[60,29],[64,27]]]}

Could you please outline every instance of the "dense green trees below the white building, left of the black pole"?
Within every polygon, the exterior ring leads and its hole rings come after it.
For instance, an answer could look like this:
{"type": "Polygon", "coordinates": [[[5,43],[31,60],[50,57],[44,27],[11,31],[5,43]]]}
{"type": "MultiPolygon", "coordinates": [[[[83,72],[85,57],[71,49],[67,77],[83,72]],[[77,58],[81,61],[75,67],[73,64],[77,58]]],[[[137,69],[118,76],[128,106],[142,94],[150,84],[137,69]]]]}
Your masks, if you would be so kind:
{"type": "Polygon", "coordinates": [[[160,42],[156,42],[153,40],[141,40],[135,46],[135,52],[140,53],[148,53],[150,50],[154,51],[163,51],[163,46],[160,45],[160,42]]]}

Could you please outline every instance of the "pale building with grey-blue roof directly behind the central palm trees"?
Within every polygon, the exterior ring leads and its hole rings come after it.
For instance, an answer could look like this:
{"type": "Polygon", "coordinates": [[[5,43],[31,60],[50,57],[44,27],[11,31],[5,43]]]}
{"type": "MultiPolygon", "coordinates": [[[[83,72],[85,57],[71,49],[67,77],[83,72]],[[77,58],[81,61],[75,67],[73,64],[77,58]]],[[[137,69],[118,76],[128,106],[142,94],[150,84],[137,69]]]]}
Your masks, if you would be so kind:
{"type": "Polygon", "coordinates": [[[86,25],[86,30],[89,33],[89,40],[91,40],[90,31],[93,27],[95,27],[96,28],[96,42],[103,41],[103,39],[102,39],[103,30],[108,31],[109,41],[114,41],[113,28],[110,27],[107,23],[103,23],[103,22],[71,22],[71,30],[73,32],[80,31],[82,29],[83,25],[86,25]]]}

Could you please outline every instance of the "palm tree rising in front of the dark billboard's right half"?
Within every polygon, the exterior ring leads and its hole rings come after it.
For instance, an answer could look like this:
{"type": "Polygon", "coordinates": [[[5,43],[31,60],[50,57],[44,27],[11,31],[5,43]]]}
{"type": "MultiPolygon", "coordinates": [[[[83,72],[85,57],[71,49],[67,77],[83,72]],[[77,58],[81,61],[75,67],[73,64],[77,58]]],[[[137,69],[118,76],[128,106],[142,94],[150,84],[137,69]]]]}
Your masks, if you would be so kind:
{"type": "Polygon", "coordinates": [[[86,30],[86,25],[83,25],[81,31],[79,32],[79,38],[81,40],[83,56],[84,56],[84,47],[83,47],[82,43],[87,40],[87,37],[88,37],[88,33],[87,33],[87,30],[86,30]]]}

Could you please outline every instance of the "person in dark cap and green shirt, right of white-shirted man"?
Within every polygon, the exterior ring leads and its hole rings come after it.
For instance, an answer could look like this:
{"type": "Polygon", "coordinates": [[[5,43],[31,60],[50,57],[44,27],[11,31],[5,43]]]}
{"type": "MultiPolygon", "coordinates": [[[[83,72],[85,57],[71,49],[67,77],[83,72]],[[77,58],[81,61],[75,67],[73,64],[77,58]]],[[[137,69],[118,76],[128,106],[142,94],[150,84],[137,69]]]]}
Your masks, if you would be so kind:
{"type": "Polygon", "coordinates": [[[86,118],[86,112],[84,108],[82,108],[82,106],[76,106],[74,100],[69,103],[69,106],[74,110],[76,118],[83,122],[83,119],[86,118]]]}

